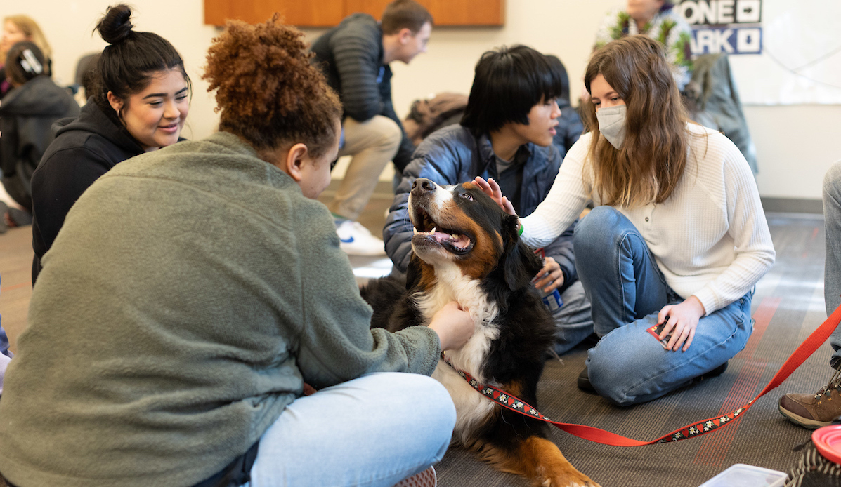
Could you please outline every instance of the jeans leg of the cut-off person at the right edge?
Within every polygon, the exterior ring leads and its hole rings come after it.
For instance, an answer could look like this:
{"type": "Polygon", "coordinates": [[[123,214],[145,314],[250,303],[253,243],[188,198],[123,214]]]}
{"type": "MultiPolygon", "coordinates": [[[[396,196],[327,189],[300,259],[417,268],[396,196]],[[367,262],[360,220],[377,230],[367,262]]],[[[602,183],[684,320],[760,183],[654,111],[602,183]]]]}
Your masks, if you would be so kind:
{"type": "MultiPolygon", "coordinates": [[[[823,176],[823,218],[826,222],[826,246],[823,270],[823,301],[827,316],[841,305],[841,160],[829,168],[823,176]]],[[[833,356],[829,364],[841,368],[841,327],[835,328],[829,337],[833,356]]]]}

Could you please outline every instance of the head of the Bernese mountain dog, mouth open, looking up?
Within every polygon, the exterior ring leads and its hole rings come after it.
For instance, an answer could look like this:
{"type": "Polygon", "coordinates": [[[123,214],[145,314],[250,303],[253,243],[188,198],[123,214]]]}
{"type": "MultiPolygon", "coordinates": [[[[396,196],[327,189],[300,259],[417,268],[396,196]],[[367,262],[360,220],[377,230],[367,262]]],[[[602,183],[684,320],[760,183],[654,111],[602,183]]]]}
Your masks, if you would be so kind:
{"type": "MultiPolygon", "coordinates": [[[[517,217],[503,212],[472,182],[439,186],[426,178],[415,180],[409,218],[415,227],[412,249],[431,268],[454,265],[473,279],[501,274],[510,291],[516,291],[529,285],[542,267],[521,242],[517,217]]],[[[426,280],[433,276],[428,273],[426,280]]]]}

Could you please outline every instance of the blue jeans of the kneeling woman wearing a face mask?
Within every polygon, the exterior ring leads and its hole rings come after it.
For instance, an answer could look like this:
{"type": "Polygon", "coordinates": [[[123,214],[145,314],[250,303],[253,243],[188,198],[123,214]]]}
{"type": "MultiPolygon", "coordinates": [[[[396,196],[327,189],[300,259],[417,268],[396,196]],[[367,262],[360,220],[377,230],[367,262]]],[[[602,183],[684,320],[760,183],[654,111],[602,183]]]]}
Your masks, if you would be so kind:
{"type": "Polygon", "coordinates": [[[596,207],[575,228],[575,264],[601,339],[587,356],[590,383],[619,406],[652,401],[742,350],[754,331],[754,291],[701,317],[685,352],[648,333],[657,314],[683,301],[654,262],[643,236],[613,207],[596,207]]]}

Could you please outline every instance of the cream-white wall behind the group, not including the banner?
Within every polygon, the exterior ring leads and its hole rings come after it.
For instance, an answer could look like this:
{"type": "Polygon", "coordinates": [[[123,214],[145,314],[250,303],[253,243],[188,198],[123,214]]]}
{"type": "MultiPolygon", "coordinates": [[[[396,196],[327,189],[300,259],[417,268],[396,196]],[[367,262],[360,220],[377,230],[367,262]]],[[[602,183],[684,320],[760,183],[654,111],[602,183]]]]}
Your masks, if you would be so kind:
{"type": "MultiPolygon", "coordinates": [[[[508,0],[502,28],[435,29],[426,55],[418,56],[411,65],[392,66],[394,107],[402,116],[412,101],[430,93],[469,92],[479,55],[498,45],[518,43],[558,55],[569,71],[571,92],[579,93],[595,30],[606,10],[625,2],[508,0]]],[[[70,83],[76,60],[105,45],[91,31],[109,3],[113,2],[28,0],[14,6],[8,2],[0,7],[0,15],[26,13],[35,18],[56,53],[56,77],[70,83]]],[[[199,78],[217,30],[204,25],[203,0],[137,0],[134,5],[137,28],[161,34],[186,61],[195,90],[185,136],[210,134],[218,116],[213,112],[214,100],[206,92],[207,84],[199,78]]],[[[323,29],[304,32],[315,39],[323,29]]],[[[823,173],[834,160],[841,159],[841,106],[745,107],[745,114],[757,146],[757,182],[762,196],[819,199],[823,173]]]]}

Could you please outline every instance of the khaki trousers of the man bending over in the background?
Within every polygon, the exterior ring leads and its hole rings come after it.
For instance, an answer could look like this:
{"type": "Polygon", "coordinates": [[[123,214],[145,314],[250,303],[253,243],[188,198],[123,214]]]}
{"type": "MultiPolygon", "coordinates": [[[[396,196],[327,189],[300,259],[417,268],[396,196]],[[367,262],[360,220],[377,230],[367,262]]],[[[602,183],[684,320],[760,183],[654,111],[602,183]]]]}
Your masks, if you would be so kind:
{"type": "Polygon", "coordinates": [[[356,220],[379,181],[385,165],[394,159],[403,132],[391,118],[376,115],[365,122],[346,118],[342,123],[345,130],[345,145],[339,150],[339,157],[352,155],[330,211],[349,220],[356,220]]]}

